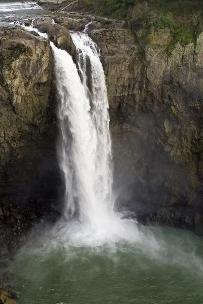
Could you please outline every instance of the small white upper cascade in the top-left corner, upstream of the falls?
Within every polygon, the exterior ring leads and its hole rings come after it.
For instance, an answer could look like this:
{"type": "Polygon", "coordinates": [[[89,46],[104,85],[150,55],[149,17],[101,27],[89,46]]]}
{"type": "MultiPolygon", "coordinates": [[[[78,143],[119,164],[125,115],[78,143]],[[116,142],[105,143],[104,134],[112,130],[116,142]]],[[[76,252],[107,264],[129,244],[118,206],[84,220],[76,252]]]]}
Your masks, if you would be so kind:
{"type": "Polygon", "coordinates": [[[42,10],[41,6],[39,6],[35,1],[0,3],[0,12],[31,9],[42,10]]]}

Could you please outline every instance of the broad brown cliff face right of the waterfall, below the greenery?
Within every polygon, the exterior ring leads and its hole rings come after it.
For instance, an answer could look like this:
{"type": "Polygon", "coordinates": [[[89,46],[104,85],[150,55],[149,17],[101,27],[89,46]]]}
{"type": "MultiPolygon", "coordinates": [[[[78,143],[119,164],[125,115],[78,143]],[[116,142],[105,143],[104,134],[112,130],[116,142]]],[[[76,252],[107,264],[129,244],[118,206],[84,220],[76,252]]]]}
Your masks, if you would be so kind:
{"type": "Polygon", "coordinates": [[[202,233],[203,34],[168,54],[168,29],[93,30],[101,48],[121,185],[120,205],[144,222],[202,233]]]}

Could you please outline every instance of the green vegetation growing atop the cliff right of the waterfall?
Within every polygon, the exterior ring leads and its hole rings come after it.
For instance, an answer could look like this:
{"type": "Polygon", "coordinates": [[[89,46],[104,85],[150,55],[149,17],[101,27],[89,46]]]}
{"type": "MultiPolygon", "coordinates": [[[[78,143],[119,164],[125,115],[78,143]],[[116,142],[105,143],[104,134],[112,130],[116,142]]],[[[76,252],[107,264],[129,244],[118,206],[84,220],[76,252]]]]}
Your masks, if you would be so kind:
{"type": "Polygon", "coordinates": [[[134,29],[143,27],[145,42],[153,30],[170,28],[173,41],[193,43],[203,29],[202,0],[80,0],[99,15],[125,19],[134,29]]]}

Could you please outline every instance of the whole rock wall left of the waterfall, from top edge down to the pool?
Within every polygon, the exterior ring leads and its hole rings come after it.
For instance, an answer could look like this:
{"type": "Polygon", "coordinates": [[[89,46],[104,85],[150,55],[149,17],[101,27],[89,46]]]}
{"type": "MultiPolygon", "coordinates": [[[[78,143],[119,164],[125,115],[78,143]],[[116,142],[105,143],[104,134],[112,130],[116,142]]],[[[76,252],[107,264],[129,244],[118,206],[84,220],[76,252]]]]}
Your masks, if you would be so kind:
{"type": "Polygon", "coordinates": [[[59,171],[50,43],[4,27],[0,41],[0,267],[7,267],[36,221],[29,197],[54,198],[50,170],[59,171]]]}

